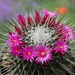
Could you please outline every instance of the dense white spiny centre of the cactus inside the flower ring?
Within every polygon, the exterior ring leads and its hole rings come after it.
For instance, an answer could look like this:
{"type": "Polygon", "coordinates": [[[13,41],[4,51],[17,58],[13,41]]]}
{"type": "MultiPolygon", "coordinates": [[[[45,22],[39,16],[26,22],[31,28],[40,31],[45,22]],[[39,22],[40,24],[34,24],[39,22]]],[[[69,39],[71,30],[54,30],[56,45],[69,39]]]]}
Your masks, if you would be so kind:
{"type": "Polygon", "coordinates": [[[30,42],[34,42],[34,44],[38,45],[40,43],[45,44],[48,43],[48,41],[52,40],[52,35],[55,33],[55,30],[52,30],[48,27],[43,26],[35,26],[34,29],[31,28],[28,30],[28,36],[30,37],[30,42]]]}

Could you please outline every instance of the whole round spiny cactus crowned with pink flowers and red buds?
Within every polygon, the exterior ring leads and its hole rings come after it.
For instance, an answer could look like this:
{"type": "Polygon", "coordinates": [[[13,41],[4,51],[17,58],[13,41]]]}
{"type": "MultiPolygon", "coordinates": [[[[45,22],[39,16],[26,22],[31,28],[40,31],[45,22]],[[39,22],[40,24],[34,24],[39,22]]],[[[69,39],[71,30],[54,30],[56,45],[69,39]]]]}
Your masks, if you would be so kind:
{"type": "Polygon", "coordinates": [[[75,75],[75,52],[70,45],[75,39],[74,28],[59,18],[44,9],[40,14],[36,11],[34,16],[14,19],[17,26],[8,27],[12,31],[7,35],[3,75],[75,75]]]}

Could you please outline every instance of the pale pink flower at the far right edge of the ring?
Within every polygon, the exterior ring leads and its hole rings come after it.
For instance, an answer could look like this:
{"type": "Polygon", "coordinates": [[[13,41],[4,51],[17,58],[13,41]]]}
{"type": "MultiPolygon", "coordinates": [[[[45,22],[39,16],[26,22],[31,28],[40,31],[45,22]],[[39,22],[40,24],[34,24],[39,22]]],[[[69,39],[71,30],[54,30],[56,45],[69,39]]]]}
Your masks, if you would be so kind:
{"type": "Polygon", "coordinates": [[[66,40],[74,39],[75,38],[74,33],[75,32],[73,28],[70,28],[69,26],[63,27],[62,35],[65,37],[66,40]]]}

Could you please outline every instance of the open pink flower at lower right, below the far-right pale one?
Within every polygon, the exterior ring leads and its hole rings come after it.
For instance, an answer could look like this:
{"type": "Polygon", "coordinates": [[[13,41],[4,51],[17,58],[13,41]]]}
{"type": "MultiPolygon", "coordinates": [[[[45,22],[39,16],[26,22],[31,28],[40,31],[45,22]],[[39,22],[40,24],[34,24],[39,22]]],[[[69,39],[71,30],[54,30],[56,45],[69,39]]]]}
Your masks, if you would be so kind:
{"type": "Polygon", "coordinates": [[[56,47],[55,47],[55,53],[60,53],[62,55],[65,54],[65,52],[68,51],[68,45],[64,41],[58,41],[56,42],[56,47]]]}

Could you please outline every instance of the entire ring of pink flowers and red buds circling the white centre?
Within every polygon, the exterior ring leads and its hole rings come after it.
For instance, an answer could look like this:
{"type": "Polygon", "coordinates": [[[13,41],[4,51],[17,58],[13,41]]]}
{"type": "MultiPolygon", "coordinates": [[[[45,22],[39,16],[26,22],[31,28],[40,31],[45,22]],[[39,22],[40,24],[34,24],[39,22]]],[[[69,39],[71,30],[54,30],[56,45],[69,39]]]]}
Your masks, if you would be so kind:
{"type": "Polygon", "coordinates": [[[27,20],[23,15],[18,15],[18,23],[21,25],[21,28],[15,26],[16,33],[9,32],[10,36],[8,36],[7,43],[10,47],[10,53],[16,58],[22,57],[23,60],[37,63],[47,63],[53,60],[53,57],[56,53],[60,55],[65,55],[68,51],[67,41],[75,38],[74,29],[69,26],[65,26],[64,24],[60,24],[60,22],[55,23],[55,19],[52,17],[56,17],[57,13],[47,11],[46,9],[42,12],[44,17],[41,17],[38,11],[35,13],[34,20],[28,16],[27,20]],[[48,21],[47,21],[47,18],[48,21]],[[47,22],[46,22],[47,21],[47,22]],[[28,26],[26,25],[28,23],[28,26]],[[27,27],[31,27],[32,23],[46,23],[46,26],[52,27],[57,31],[57,37],[54,40],[54,45],[46,46],[43,44],[39,44],[38,46],[30,46],[28,45],[22,38],[24,35],[23,30],[27,27]]]}

